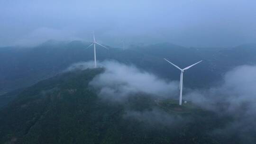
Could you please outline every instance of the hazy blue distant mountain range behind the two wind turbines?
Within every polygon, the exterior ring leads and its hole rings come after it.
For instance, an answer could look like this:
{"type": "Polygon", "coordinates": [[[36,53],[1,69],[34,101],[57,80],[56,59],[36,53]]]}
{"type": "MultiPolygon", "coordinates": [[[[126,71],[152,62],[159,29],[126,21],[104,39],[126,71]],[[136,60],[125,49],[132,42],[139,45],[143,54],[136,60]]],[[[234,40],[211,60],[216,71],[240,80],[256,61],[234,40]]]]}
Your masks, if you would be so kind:
{"type": "MultiPolygon", "coordinates": [[[[93,49],[81,41],[47,41],[36,47],[0,48],[0,95],[26,88],[38,81],[52,77],[72,63],[93,60],[93,49]]],[[[166,63],[167,58],[180,67],[197,61],[203,62],[184,73],[184,86],[209,87],[221,82],[223,73],[243,64],[256,64],[256,45],[233,48],[186,48],[170,43],[148,46],[132,45],[126,50],[97,48],[97,60],[116,60],[134,64],[139,69],[152,72],[160,78],[178,80],[179,72],[166,63]]],[[[2,96],[0,99],[7,99],[2,96]]]]}

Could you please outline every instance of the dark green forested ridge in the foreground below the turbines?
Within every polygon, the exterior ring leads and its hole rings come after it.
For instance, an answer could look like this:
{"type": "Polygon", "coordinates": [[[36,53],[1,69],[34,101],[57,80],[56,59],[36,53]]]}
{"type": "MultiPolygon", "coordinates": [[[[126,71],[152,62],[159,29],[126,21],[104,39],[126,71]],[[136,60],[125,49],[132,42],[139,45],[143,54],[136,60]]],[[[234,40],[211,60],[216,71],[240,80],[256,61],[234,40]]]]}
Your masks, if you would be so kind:
{"type": "Polygon", "coordinates": [[[223,117],[201,108],[193,109],[190,103],[181,107],[172,99],[155,102],[156,97],[143,93],[131,95],[122,103],[101,99],[88,84],[103,71],[97,68],[66,72],[23,90],[0,109],[0,142],[218,144],[216,141],[223,141],[210,133],[222,127],[218,122],[223,117]]]}

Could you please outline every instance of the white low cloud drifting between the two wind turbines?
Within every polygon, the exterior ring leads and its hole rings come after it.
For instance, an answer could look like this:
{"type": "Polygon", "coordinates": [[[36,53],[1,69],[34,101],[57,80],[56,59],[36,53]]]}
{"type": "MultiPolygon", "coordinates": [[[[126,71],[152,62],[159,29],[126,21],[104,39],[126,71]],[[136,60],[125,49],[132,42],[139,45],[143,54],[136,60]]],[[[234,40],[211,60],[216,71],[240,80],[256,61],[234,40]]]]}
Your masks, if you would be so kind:
{"type": "Polygon", "coordinates": [[[96,76],[90,85],[100,89],[99,96],[121,101],[138,92],[159,97],[172,97],[177,92],[178,83],[159,79],[154,74],[139,70],[134,65],[115,61],[101,63],[105,72],[96,76]]]}

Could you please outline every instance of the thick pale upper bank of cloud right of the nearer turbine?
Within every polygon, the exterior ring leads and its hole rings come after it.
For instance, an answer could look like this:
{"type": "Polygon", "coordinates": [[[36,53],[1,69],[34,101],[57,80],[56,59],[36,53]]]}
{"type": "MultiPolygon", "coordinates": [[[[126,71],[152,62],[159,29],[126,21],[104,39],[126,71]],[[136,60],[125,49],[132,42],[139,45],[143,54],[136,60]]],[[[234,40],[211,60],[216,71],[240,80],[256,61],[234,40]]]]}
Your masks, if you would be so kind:
{"type": "Polygon", "coordinates": [[[244,103],[256,103],[256,66],[243,65],[224,75],[224,83],[208,90],[190,90],[184,97],[204,108],[217,110],[215,104],[228,104],[226,110],[237,111],[244,103]]]}

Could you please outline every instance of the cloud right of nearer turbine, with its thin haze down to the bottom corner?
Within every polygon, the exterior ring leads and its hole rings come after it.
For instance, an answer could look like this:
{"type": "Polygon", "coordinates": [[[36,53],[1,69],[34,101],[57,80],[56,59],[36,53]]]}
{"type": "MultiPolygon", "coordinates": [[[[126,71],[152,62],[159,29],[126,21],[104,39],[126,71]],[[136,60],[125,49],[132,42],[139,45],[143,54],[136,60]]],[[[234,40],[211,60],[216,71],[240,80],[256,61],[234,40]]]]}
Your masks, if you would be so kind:
{"type": "Polygon", "coordinates": [[[256,138],[256,66],[243,65],[227,72],[224,83],[209,90],[192,90],[184,96],[193,103],[232,117],[220,135],[238,135],[241,143],[255,144],[256,138]]]}

